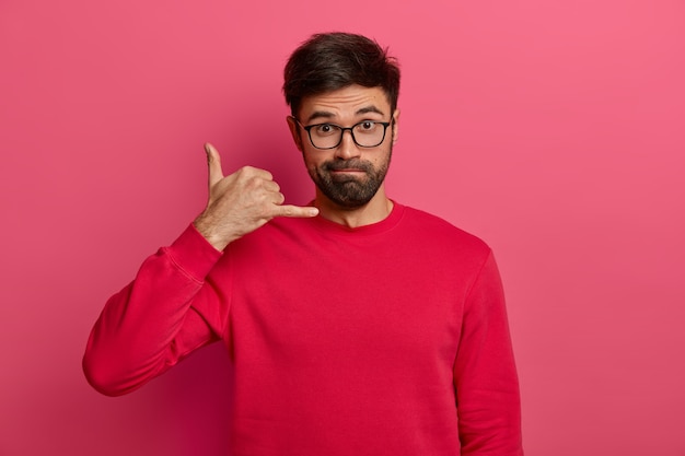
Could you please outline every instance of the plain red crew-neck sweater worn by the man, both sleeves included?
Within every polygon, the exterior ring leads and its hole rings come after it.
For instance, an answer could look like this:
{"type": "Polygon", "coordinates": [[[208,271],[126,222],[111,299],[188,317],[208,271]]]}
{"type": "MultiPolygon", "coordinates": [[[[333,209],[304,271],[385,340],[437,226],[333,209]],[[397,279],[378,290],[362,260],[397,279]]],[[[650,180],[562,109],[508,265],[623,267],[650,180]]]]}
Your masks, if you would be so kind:
{"type": "Polygon", "coordinates": [[[275,219],[223,254],[190,225],[107,302],[83,365],[121,395],[217,340],[235,456],[522,454],[492,254],[425,212],[275,219]]]}

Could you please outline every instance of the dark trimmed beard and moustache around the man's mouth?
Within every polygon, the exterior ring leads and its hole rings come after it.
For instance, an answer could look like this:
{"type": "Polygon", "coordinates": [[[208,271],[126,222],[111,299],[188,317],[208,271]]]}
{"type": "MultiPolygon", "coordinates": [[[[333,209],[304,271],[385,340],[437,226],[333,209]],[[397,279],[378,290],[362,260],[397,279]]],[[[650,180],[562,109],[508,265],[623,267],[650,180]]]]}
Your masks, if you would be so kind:
{"type": "Polygon", "coordinates": [[[321,167],[310,169],[316,187],[333,202],[346,209],[357,209],[367,204],[381,188],[390,165],[390,156],[378,169],[361,160],[330,161],[321,167]],[[332,176],[336,169],[360,169],[364,177],[332,176]]]}

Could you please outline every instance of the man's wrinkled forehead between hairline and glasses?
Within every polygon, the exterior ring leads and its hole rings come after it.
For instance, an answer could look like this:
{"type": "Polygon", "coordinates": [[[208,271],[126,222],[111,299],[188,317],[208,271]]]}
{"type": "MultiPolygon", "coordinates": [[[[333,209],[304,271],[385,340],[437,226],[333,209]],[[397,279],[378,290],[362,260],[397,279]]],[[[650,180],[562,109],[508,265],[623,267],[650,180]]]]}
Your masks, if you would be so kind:
{"type": "Polygon", "coordinates": [[[390,103],[381,87],[349,85],[336,91],[306,96],[300,105],[299,118],[310,121],[322,119],[356,119],[363,116],[387,117],[390,103]]]}

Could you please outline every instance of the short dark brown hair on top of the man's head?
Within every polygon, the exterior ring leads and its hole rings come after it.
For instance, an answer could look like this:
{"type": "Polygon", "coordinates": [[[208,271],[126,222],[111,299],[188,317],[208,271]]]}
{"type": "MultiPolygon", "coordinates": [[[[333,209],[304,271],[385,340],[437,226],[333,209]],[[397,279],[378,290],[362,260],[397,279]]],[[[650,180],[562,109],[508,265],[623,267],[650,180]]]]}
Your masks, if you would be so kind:
{"type": "Polygon", "coordinates": [[[352,84],[381,87],[391,106],[397,107],[399,67],[379,44],[362,35],[324,33],[298,47],[283,71],[283,93],[293,116],[302,98],[352,84]]]}

